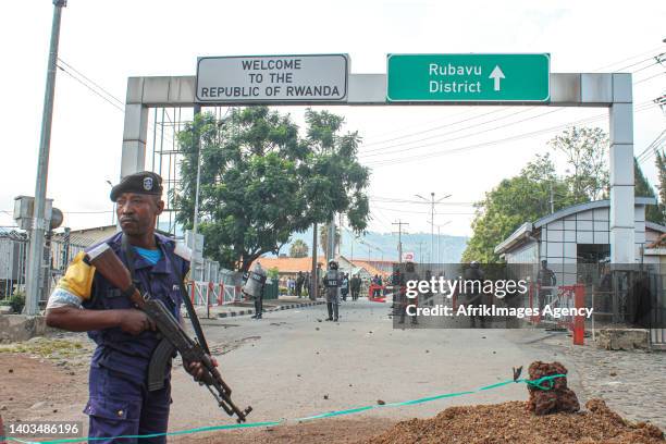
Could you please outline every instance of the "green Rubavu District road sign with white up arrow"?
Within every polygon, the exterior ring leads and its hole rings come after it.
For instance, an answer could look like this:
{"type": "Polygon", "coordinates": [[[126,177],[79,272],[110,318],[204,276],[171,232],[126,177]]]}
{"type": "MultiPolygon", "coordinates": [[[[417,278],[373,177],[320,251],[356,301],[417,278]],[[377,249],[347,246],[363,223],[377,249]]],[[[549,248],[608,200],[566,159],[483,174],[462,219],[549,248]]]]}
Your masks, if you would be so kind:
{"type": "Polygon", "coordinates": [[[550,54],[388,54],[386,100],[546,102],[550,54]]]}

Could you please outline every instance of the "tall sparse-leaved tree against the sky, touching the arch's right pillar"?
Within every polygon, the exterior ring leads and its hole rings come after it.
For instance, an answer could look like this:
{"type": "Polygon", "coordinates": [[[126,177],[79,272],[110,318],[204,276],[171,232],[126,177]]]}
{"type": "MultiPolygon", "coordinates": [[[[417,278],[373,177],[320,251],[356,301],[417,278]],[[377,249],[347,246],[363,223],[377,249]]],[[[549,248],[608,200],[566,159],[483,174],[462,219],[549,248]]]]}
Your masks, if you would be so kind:
{"type": "Polygon", "coordinates": [[[574,200],[599,200],[608,194],[608,135],[599,127],[571,126],[548,145],[565,155],[570,169],[567,183],[574,200]]]}

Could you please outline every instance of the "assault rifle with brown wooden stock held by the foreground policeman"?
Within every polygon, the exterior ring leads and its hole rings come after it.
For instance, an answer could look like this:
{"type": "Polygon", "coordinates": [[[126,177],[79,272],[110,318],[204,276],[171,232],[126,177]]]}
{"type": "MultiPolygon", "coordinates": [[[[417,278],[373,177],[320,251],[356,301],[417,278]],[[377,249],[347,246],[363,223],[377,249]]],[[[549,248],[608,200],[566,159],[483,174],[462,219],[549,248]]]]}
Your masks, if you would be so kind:
{"type": "MultiPolygon", "coordinates": [[[[150,298],[149,294],[141,296],[132,282],[130,270],[121,262],[108,244],[103,243],[87,254],[86,262],[95,266],[97,271],[111,283],[120,288],[123,296],[128,297],[136,308],[144,311],[163,336],[152,354],[148,370],[148,390],[159,390],[164,384],[164,369],[166,361],[177,350],[184,362],[201,362],[205,373],[199,381],[206,387],[229,416],[237,416],[237,422],[245,422],[245,418],[252,411],[251,407],[240,410],[231,399],[231,388],[222,380],[222,375],[213,366],[210,356],[205,351],[199,342],[192,340],[183,330],[183,326],[173,317],[164,304],[159,299],[150,298]]],[[[187,295],[183,295],[187,297],[187,295]]]]}

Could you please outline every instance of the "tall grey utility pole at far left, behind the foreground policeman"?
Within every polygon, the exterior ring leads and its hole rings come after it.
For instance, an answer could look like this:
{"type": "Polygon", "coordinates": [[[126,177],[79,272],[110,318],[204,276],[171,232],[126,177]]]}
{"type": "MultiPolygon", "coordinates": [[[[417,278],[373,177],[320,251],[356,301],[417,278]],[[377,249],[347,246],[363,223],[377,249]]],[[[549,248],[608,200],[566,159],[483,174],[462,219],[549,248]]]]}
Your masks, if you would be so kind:
{"type": "Polygon", "coordinates": [[[49,151],[51,147],[51,121],[53,118],[53,96],[55,92],[55,63],[58,60],[58,44],[60,40],[60,18],[66,0],[53,0],[53,22],[51,24],[51,45],[47,83],[44,95],[44,111],[41,115],[41,136],[39,139],[39,157],[37,160],[37,178],[35,181],[35,206],[33,210],[33,230],[28,249],[27,275],[25,280],[25,312],[39,313],[40,275],[44,264],[44,237],[47,229],[46,189],[49,176],[49,151]]]}

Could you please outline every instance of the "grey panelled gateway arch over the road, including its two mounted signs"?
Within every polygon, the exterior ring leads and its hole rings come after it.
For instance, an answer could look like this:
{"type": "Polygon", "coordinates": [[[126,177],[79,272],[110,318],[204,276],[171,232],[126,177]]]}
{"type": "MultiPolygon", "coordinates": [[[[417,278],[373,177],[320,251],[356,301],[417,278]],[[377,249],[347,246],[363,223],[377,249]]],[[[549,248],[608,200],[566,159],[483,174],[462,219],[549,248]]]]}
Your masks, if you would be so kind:
{"type": "Polygon", "coordinates": [[[610,259],[634,263],[631,74],[550,73],[548,54],[392,54],[387,66],[385,74],[353,74],[346,54],[219,57],[199,59],[196,76],[131,77],[121,176],[145,169],[150,107],[603,107],[609,110],[610,259]]]}

